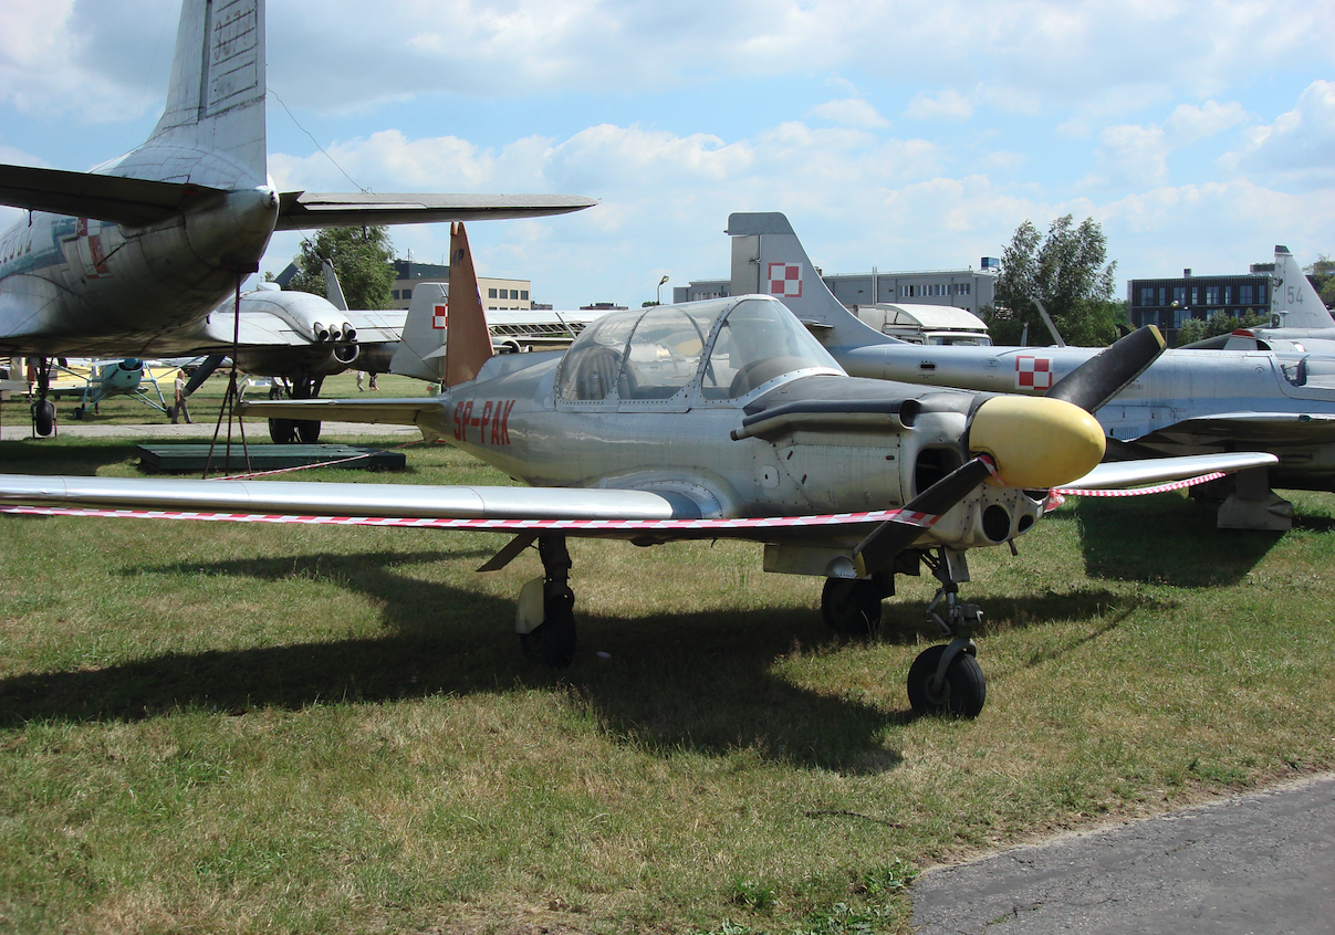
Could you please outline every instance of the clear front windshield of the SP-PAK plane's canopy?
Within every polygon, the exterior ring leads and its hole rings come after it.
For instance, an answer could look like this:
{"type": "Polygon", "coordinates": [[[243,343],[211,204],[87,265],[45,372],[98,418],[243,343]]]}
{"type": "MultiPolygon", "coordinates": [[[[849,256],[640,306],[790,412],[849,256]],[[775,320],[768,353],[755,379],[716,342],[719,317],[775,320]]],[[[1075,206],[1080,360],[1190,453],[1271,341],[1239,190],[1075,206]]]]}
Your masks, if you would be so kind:
{"type": "Polygon", "coordinates": [[[701,392],[706,399],[737,399],[776,376],[806,367],[838,371],[797,316],[777,301],[740,301],[714,337],[701,392]]]}

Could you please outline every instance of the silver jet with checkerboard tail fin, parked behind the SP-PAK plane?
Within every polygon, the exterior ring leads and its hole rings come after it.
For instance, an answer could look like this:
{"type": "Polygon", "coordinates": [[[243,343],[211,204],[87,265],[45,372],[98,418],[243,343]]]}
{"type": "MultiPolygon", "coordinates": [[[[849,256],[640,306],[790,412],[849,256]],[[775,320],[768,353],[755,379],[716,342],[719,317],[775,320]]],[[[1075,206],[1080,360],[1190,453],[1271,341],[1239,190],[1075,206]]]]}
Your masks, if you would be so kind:
{"type": "MultiPolygon", "coordinates": [[[[869,327],[830,293],[784,215],[734,213],[728,232],[733,295],[762,292],[782,299],[854,376],[1043,396],[1100,352],[906,344],[869,327]]],[[[1296,288],[1295,295],[1310,305],[1315,291],[1302,271],[1298,276],[1311,295],[1296,288]]],[[[1318,305],[1324,309],[1319,300],[1318,305]]],[[[1099,409],[1097,419],[1113,459],[1228,451],[1276,455],[1274,467],[1204,488],[1208,496],[1223,499],[1220,528],[1291,528],[1292,504],[1272,486],[1335,490],[1335,356],[1255,348],[1164,351],[1099,409]]]]}

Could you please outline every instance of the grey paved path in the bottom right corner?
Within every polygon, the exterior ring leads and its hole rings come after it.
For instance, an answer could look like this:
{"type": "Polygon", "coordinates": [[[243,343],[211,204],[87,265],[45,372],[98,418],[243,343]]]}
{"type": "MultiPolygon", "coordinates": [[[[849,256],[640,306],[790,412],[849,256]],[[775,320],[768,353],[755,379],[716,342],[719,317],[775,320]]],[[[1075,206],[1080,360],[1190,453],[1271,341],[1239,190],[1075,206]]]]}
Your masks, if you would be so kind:
{"type": "Polygon", "coordinates": [[[920,935],[1335,934],[1335,776],[928,871],[920,935]]]}

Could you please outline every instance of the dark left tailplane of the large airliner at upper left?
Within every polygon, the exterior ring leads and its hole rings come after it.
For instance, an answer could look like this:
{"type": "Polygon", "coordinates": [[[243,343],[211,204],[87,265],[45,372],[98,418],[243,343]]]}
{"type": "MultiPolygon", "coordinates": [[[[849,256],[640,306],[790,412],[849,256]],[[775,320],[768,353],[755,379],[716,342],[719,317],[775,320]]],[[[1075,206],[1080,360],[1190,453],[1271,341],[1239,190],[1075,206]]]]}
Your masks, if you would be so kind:
{"type": "Polygon", "coordinates": [[[155,224],[224,195],[190,183],[0,165],[0,204],[128,227],[155,224]]]}

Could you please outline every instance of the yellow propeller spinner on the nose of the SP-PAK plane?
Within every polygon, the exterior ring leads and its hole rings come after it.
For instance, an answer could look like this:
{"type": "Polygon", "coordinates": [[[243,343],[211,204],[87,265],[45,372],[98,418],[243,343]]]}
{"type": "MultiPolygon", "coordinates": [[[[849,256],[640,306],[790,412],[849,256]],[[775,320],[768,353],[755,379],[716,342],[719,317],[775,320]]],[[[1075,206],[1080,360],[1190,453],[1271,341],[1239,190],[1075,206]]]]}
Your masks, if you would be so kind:
{"type": "Polygon", "coordinates": [[[1089,474],[1105,440],[1079,405],[1045,396],[993,396],[969,424],[969,452],[991,455],[1007,487],[1048,490],[1089,474]]]}

